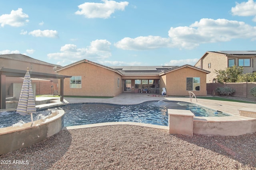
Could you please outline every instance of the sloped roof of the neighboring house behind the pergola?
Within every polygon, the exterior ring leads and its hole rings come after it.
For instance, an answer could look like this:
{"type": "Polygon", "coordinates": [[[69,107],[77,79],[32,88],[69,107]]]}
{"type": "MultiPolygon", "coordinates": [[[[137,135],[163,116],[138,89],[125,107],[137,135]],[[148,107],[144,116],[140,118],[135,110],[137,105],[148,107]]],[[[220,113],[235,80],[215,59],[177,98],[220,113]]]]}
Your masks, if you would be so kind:
{"type": "Polygon", "coordinates": [[[47,66],[62,67],[62,66],[57,65],[57,64],[50,64],[50,63],[46,63],[44,61],[33,59],[32,57],[28,57],[28,56],[23,55],[23,54],[2,54],[2,55],[0,55],[0,58],[18,60],[18,61],[26,61],[26,62],[29,62],[29,63],[43,64],[43,65],[47,65],[47,66]]]}

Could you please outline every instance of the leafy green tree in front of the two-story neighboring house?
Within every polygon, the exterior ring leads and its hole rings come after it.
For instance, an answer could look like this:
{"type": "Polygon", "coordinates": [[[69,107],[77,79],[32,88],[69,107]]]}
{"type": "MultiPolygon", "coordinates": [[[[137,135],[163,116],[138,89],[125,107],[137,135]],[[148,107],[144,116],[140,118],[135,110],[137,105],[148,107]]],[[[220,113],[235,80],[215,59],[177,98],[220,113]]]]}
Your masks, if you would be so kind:
{"type": "Polygon", "coordinates": [[[238,75],[242,74],[243,67],[242,66],[232,66],[228,67],[225,70],[215,70],[217,73],[217,79],[220,83],[231,83],[237,82],[238,75]]]}

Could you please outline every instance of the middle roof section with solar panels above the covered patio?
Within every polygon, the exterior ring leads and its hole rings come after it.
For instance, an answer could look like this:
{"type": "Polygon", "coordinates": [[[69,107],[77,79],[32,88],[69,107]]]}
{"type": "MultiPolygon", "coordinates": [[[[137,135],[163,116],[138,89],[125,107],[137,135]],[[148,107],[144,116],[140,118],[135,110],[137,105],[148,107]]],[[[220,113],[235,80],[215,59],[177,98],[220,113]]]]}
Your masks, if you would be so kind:
{"type": "Polygon", "coordinates": [[[159,73],[177,66],[111,66],[123,76],[159,76],[159,73]]]}

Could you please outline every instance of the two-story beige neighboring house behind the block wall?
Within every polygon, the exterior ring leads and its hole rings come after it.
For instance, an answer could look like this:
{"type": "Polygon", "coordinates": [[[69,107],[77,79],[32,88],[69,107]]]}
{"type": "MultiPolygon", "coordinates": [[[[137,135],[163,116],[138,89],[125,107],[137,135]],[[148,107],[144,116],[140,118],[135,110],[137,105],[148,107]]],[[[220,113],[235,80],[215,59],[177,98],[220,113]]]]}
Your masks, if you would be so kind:
{"type": "Polygon", "coordinates": [[[215,70],[224,70],[234,65],[242,66],[243,73],[255,72],[256,51],[206,51],[194,66],[210,71],[206,83],[216,83],[215,70]]]}

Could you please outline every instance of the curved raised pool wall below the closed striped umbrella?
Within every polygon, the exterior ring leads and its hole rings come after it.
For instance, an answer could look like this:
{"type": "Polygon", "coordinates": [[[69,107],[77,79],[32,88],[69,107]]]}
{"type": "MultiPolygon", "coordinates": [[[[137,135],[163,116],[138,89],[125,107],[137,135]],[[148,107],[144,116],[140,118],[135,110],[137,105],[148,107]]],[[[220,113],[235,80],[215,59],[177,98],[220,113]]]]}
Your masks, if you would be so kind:
{"type": "Polygon", "coordinates": [[[25,123],[22,127],[0,128],[0,155],[29,147],[58,133],[64,127],[64,110],[53,112],[46,119],[25,123]]]}

